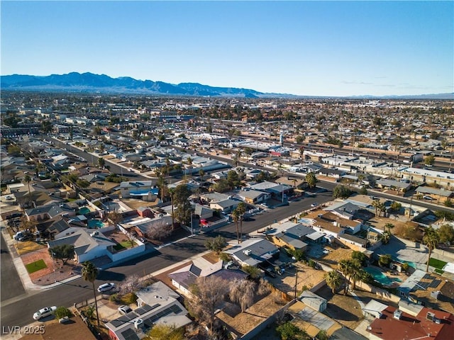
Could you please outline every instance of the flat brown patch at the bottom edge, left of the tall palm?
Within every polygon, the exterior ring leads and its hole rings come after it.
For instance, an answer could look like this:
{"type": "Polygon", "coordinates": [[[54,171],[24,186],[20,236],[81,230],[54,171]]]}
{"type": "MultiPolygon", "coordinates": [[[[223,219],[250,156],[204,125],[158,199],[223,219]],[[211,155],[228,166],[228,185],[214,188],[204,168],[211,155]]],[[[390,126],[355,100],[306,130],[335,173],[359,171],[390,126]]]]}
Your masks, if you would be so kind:
{"type": "Polygon", "coordinates": [[[36,323],[38,327],[45,325],[44,334],[30,334],[23,336],[23,340],[95,340],[95,336],[82,322],[80,317],[72,317],[71,323],[59,324],[57,320],[36,323]]]}

